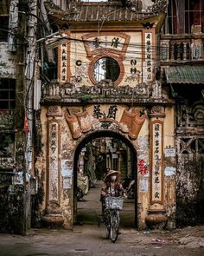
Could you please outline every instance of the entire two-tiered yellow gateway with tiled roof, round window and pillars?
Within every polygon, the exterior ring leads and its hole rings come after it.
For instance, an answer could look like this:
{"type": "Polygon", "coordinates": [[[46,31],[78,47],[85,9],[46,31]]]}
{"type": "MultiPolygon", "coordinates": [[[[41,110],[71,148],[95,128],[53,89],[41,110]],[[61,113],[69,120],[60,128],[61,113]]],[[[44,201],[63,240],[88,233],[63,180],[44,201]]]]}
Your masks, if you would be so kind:
{"type": "Polygon", "coordinates": [[[174,226],[175,102],[162,86],[156,47],[167,1],[46,7],[60,35],[47,42],[58,47],[57,81],[44,84],[41,97],[45,222],[72,228],[76,153],[110,133],[137,153],[137,226],[174,226]]]}

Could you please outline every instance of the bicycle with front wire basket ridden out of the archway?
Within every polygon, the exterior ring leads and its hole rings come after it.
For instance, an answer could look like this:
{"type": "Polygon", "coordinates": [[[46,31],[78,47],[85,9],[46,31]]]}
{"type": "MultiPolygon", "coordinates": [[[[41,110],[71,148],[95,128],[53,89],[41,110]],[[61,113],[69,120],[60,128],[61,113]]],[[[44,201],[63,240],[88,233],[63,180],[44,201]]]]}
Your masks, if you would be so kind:
{"type": "Polygon", "coordinates": [[[111,240],[113,243],[118,238],[119,233],[119,213],[123,208],[124,197],[118,196],[107,196],[105,197],[105,226],[106,226],[106,238],[111,240]]]}

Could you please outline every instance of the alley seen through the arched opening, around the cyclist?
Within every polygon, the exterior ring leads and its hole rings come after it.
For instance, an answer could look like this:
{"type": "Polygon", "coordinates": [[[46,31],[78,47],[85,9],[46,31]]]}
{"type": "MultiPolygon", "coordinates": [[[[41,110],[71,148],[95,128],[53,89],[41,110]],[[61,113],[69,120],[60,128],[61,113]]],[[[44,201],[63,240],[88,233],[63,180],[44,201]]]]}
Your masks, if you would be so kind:
{"type": "Polygon", "coordinates": [[[74,223],[99,224],[101,219],[100,191],[106,167],[120,172],[119,179],[128,193],[121,212],[121,226],[136,227],[137,152],[131,141],[123,135],[110,131],[88,135],[75,150],[74,223]]]}

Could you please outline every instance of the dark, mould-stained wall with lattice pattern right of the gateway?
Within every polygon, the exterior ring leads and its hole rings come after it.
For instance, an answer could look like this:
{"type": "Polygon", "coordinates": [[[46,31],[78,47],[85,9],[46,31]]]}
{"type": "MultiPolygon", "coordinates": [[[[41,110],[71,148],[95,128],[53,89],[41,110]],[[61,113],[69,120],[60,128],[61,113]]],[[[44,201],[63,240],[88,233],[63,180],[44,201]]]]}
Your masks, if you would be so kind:
{"type": "Polygon", "coordinates": [[[204,222],[204,102],[201,88],[179,91],[185,98],[177,107],[176,223],[178,226],[204,222]],[[190,102],[191,101],[191,102],[190,102]],[[188,102],[188,103],[187,103],[188,102]]]}

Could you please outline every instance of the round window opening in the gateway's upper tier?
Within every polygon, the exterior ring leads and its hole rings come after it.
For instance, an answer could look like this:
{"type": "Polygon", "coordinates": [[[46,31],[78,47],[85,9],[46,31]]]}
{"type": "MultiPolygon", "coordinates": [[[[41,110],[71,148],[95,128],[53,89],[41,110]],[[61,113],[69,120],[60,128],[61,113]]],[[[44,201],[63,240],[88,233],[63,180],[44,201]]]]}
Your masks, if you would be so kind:
{"type": "Polygon", "coordinates": [[[94,63],[93,75],[97,82],[105,79],[115,82],[120,75],[118,62],[111,57],[100,58],[94,63]]]}

